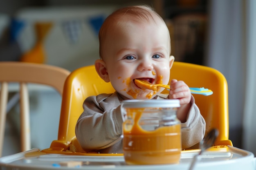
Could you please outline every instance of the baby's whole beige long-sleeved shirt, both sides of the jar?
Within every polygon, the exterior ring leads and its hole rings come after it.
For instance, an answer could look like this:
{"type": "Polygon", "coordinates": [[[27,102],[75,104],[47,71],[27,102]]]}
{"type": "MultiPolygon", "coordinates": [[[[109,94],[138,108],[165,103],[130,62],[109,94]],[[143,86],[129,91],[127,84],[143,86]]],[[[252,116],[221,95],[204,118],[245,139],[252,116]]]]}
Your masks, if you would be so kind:
{"type": "MultiPolygon", "coordinates": [[[[166,95],[167,97],[167,95],[166,95]]],[[[76,138],[85,151],[122,153],[122,124],[126,99],[117,92],[85,99],[83,113],[76,124],[76,138]]],[[[155,97],[154,99],[163,99],[155,97]]],[[[205,121],[191,97],[191,108],[186,122],[181,124],[182,149],[198,144],[204,137],[205,121]]]]}

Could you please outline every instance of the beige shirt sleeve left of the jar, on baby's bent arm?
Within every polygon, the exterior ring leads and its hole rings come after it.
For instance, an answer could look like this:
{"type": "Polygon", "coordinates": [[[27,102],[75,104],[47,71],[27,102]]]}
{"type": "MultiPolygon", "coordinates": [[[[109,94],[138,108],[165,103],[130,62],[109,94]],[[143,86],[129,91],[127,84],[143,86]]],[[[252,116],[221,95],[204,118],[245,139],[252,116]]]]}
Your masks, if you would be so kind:
{"type": "Polygon", "coordinates": [[[75,130],[85,151],[101,150],[121,140],[124,112],[115,93],[88,97],[83,109],[75,130]]]}

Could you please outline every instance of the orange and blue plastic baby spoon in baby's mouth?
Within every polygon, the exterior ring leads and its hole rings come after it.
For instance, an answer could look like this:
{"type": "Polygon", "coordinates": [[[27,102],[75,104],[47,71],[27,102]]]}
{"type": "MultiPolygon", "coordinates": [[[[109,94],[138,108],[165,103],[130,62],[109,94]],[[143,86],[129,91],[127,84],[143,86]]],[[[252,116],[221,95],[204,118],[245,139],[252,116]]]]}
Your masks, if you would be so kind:
{"type": "MultiPolygon", "coordinates": [[[[142,79],[135,79],[134,80],[135,84],[139,86],[142,89],[150,89],[153,91],[157,91],[157,87],[164,87],[167,89],[170,89],[169,85],[165,84],[151,84],[150,82],[142,79]]],[[[192,94],[199,94],[199,95],[205,95],[209,96],[213,94],[213,91],[209,90],[208,88],[189,88],[192,94]]]]}

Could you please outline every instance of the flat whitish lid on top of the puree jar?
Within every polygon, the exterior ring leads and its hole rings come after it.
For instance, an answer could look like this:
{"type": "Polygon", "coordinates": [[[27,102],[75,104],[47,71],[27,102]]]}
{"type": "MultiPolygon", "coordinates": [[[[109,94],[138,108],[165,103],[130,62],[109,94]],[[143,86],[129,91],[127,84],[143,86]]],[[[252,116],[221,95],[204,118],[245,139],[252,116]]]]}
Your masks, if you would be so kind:
{"type": "Polygon", "coordinates": [[[178,99],[151,99],[151,100],[143,100],[143,99],[130,99],[124,100],[123,102],[124,108],[177,108],[180,107],[180,100],[178,99]]]}

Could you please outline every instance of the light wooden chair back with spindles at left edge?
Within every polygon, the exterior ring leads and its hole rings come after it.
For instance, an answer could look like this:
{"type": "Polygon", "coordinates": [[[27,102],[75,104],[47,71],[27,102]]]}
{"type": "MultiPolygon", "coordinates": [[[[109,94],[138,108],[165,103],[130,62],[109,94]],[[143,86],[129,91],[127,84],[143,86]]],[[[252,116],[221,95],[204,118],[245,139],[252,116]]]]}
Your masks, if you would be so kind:
{"type": "Polygon", "coordinates": [[[29,126],[29,93],[27,83],[52,86],[62,95],[65,79],[70,74],[63,68],[25,62],[0,62],[0,157],[2,155],[8,84],[20,84],[20,137],[21,151],[31,148],[29,126]]]}

